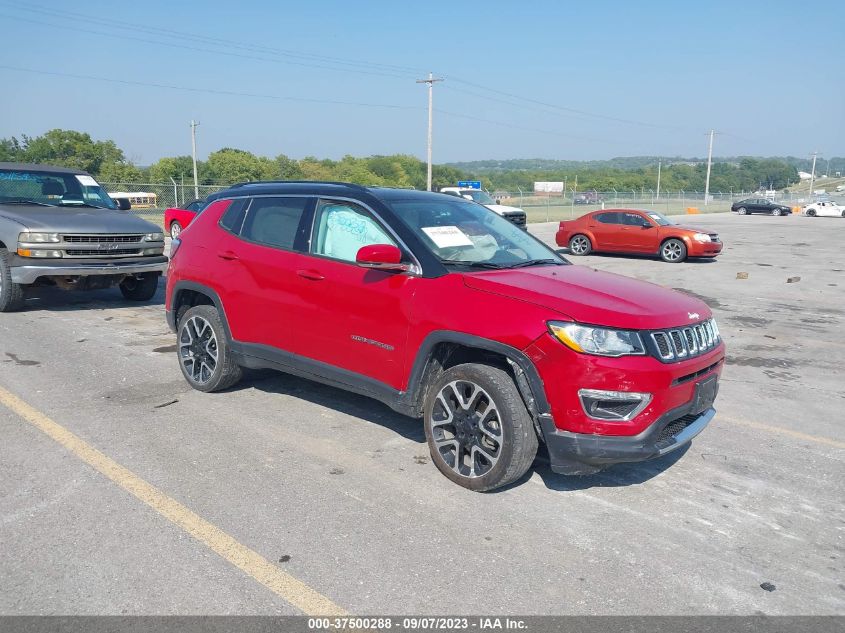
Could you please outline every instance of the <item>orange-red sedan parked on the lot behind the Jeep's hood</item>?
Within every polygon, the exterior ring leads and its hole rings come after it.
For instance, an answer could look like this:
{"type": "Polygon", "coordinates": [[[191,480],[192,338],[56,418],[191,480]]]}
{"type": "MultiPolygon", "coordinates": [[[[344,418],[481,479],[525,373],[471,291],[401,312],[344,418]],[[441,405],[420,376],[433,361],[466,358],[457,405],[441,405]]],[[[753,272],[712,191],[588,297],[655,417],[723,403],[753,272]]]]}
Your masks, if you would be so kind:
{"type": "Polygon", "coordinates": [[[573,255],[593,251],[658,255],[670,263],[687,257],[716,257],[722,252],[717,233],[678,226],[662,213],[637,209],[593,211],[577,220],[561,222],[555,242],[568,246],[573,255]]]}

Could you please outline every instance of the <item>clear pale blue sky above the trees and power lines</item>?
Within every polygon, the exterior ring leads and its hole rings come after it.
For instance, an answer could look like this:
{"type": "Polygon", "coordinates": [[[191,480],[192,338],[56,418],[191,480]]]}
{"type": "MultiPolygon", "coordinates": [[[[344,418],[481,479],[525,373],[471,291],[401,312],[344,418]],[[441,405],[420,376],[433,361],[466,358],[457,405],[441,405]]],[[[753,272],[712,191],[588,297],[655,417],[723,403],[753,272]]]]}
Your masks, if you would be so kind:
{"type": "Polygon", "coordinates": [[[845,155],[845,2],[0,0],[0,138],[434,162],[845,155]],[[805,8],[806,7],[806,8],[805,8]]]}

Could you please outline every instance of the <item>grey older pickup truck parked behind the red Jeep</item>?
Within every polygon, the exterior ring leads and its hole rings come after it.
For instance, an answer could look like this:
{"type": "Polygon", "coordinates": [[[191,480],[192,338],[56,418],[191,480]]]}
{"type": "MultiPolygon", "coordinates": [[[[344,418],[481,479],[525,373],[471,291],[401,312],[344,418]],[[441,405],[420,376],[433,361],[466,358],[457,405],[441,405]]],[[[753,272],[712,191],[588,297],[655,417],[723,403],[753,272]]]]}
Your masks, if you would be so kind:
{"type": "Polygon", "coordinates": [[[84,171],[0,163],[0,312],[44,285],[117,284],[127,299],[151,299],[167,268],[164,234],[128,208],[84,171]]]}

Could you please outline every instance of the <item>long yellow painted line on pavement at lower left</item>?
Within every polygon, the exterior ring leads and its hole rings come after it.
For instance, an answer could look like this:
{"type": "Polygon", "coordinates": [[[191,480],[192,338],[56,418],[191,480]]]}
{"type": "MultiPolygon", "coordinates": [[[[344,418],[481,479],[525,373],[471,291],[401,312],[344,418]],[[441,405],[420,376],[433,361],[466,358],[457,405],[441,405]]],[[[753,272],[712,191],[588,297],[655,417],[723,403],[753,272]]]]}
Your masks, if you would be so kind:
{"type": "Polygon", "coordinates": [[[0,404],[300,611],[307,615],[346,615],[346,611],[324,595],[285,573],[3,387],[0,387],[0,404]]]}

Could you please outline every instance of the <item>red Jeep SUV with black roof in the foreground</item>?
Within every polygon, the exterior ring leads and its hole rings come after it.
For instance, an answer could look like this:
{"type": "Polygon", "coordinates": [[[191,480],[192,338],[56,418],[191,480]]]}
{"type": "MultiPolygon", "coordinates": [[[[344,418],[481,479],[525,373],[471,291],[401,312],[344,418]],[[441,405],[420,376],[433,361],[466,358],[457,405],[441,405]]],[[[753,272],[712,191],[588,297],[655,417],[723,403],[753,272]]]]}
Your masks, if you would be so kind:
{"type": "Polygon", "coordinates": [[[200,391],[274,368],[422,417],[452,481],[586,474],[687,444],[725,347],[701,301],[573,266],[474,202],[346,183],[211,196],[173,241],[167,320],[200,391]]]}

